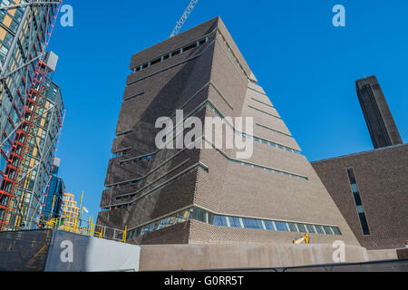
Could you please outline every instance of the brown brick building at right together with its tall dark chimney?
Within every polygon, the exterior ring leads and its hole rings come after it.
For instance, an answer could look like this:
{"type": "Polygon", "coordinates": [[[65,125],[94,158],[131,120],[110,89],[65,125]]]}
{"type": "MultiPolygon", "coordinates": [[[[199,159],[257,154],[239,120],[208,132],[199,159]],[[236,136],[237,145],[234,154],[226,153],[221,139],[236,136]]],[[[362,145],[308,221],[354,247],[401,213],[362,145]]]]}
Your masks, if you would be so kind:
{"type": "Polygon", "coordinates": [[[376,77],[355,84],[375,150],[312,166],[362,247],[402,248],[408,240],[408,145],[376,77]]]}

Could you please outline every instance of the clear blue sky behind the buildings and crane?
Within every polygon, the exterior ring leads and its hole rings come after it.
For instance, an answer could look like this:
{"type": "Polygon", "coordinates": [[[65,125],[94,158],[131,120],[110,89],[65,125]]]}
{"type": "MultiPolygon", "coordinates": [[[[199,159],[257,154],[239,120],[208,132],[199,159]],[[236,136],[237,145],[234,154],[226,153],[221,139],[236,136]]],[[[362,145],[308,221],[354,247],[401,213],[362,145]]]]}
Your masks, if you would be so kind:
{"type": "MultiPolygon", "coordinates": [[[[96,217],[131,55],[165,40],[189,0],[73,1],[49,48],[67,115],[60,176],[96,217]],[[115,5],[117,5],[115,7],[115,5]]],[[[408,138],[408,1],[199,0],[183,31],[221,16],[308,160],[371,150],[355,80],[375,74],[408,138]],[[332,7],[345,5],[345,27],[332,7]]]]}

